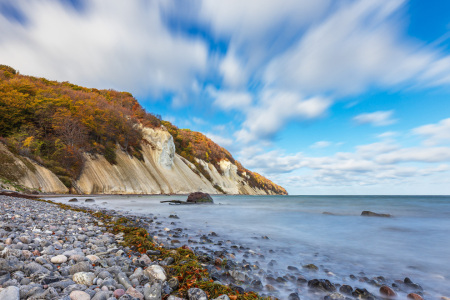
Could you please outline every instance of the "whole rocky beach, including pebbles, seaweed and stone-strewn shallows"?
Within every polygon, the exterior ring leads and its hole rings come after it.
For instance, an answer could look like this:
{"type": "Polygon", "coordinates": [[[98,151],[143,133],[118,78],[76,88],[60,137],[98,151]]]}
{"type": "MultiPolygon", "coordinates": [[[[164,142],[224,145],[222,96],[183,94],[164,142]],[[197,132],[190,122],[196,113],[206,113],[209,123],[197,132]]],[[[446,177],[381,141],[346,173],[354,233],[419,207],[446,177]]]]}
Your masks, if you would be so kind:
{"type": "Polygon", "coordinates": [[[314,264],[282,271],[273,259],[282,253],[263,254],[215,232],[196,234],[177,215],[137,216],[94,199],[72,200],[70,209],[0,197],[0,300],[427,299],[409,278],[358,273],[343,283],[334,270],[319,273],[322,266],[314,264]],[[119,221],[145,228],[153,247],[127,245],[126,226],[114,232],[107,224],[119,221]]]}

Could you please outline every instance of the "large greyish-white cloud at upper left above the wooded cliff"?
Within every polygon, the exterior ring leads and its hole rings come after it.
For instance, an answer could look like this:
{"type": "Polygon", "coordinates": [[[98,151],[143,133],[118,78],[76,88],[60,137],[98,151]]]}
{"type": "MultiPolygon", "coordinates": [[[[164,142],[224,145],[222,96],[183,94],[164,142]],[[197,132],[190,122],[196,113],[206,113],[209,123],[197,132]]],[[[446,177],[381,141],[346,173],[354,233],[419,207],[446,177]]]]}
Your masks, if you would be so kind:
{"type": "Polygon", "coordinates": [[[2,63],[22,73],[96,88],[155,95],[190,88],[205,72],[208,48],[172,34],[160,8],[172,1],[17,1],[26,25],[0,15],[2,63]]]}

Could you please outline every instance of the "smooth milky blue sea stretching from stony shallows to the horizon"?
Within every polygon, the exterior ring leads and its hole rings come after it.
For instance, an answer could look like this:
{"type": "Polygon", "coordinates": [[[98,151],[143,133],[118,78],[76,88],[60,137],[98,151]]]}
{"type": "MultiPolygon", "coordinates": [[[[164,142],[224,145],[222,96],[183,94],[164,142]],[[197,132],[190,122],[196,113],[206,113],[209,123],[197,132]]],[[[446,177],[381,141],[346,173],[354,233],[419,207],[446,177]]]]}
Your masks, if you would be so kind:
{"type": "Polygon", "coordinates": [[[239,241],[264,254],[267,261],[275,259],[280,270],[288,265],[300,268],[314,263],[321,266],[314,278],[347,282],[354,287],[361,284],[349,282],[348,276],[359,272],[369,278],[410,277],[424,287],[428,298],[450,296],[449,196],[213,198],[216,205],[174,206],[159,201],[186,197],[100,196],[96,204],[161,217],[175,213],[185,227],[199,233],[215,231],[221,237],[239,241]],[[394,217],[361,217],[363,210],[394,217]],[[274,253],[269,253],[271,249],[274,253]]]}

